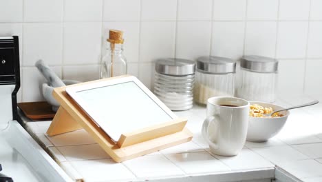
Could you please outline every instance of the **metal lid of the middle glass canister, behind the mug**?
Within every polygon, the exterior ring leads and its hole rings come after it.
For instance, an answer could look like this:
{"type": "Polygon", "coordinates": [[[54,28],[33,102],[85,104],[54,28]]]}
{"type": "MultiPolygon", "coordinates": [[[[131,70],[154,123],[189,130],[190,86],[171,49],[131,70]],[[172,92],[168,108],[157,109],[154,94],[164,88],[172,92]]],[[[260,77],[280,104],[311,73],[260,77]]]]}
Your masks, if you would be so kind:
{"type": "Polygon", "coordinates": [[[236,72],[236,61],[226,57],[200,57],[197,71],[208,74],[227,74],[236,72]]]}

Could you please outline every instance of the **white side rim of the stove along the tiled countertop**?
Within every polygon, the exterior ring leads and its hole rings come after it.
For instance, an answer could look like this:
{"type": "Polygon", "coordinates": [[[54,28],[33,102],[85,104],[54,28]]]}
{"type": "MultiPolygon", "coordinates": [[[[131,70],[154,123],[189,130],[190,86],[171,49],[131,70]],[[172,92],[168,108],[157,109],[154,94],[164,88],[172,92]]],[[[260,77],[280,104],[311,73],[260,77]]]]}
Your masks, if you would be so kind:
{"type": "Polygon", "coordinates": [[[45,181],[72,181],[17,121],[10,121],[5,136],[8,143],[30,163],[40,179],[45,181]]]}

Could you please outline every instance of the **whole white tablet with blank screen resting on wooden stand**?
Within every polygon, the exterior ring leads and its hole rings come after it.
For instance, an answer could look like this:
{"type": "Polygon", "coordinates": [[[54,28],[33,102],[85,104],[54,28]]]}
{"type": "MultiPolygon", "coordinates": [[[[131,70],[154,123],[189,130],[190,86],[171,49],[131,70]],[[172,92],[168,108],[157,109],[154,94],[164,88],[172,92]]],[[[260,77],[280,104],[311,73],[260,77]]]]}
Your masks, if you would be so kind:
{"type": "Polygon", "coordinates": [[[133,76],[76,85],[66,92],[114,141],[121,134],[177,119],[133,76]]]}

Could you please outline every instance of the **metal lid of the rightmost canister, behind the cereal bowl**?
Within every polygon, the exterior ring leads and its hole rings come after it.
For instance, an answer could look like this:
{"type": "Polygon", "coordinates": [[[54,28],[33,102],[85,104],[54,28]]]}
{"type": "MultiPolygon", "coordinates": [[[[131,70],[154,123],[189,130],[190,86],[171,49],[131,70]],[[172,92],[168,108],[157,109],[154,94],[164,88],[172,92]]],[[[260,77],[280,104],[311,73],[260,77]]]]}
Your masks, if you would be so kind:
{"type": "Polygon", "coordinates": [[[244,56],[241,58],[240,66],[254,72],[277,72],[279,61],[270,57],[244,56]]]}

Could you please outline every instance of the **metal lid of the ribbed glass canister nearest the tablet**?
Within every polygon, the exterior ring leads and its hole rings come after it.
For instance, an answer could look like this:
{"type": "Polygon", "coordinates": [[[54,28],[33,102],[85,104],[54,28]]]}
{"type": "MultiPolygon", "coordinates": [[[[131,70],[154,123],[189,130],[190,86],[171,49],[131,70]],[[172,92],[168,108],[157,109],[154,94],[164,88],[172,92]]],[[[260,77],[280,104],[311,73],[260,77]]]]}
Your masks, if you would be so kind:
{"type": "Polygon", "coordinates": [[[173,76],[195,74],[195,61],[173,58],[158,59],[155,62],[155,71],[173,76]]]}

